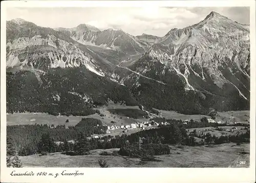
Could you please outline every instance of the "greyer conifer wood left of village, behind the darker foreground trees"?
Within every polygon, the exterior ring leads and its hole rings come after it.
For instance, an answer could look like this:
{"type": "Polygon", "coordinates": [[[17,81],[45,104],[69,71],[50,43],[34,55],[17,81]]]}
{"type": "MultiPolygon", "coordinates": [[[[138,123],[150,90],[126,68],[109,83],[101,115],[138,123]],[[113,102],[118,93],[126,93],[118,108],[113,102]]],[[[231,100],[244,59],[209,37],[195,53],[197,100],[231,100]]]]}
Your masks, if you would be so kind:
{"type": "Polygon", "coordinates": [[[92,134],[106,133],[107,127],[102,122],[93,118],[82,118],[75,126],[66,127],[57,125],[56,127],[48,125],[13,125],[7,126],[7,136],[12,138],[17,151],[26,152],[25,154],[37,153],[37,144],[41,136],[49,133],[54,142],[64,142],[65,140],[77,139],[78,133],[86,136],[92,134]]]}

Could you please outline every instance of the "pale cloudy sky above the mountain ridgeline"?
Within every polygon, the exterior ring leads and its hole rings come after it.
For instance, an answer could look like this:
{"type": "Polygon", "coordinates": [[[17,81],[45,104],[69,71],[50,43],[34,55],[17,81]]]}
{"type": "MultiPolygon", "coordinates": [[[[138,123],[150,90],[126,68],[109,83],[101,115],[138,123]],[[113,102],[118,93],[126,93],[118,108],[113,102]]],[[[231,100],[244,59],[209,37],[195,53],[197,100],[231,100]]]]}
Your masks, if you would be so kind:
{"type": "Polygon", "coordinates": [[[72,28],[89,24],[100,30],[116,28],[132,35],[164,36],[170,29],[197,24],[211,11],[249,24],[249,7],[64,7],[8,8],[7,20],[22,18],[41,27],[72,28]]]}

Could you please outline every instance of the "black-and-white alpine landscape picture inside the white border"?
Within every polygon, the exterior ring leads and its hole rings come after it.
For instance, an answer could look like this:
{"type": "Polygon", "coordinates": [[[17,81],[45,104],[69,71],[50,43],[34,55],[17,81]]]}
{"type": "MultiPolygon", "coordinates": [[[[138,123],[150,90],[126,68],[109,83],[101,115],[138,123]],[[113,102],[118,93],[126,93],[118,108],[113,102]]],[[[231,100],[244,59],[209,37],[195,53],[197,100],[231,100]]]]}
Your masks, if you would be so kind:
{"type": "Polygon", "coordinates": [[[7,7],[6,167],[250,168],[250,11],[7,7]]]}

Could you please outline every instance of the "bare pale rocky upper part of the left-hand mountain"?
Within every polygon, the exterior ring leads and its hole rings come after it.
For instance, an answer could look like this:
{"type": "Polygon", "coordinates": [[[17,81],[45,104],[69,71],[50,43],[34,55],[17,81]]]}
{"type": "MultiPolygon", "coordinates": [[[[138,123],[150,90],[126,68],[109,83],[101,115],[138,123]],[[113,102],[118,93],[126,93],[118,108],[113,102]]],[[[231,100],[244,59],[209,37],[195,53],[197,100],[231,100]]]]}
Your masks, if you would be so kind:
{"type": "Polygon", "coordinates": [[[48,68],[86,66],[104,76],[91,52],[69,36],[39,27],[22,19],[7,21],[7,68],[48,68]]]}

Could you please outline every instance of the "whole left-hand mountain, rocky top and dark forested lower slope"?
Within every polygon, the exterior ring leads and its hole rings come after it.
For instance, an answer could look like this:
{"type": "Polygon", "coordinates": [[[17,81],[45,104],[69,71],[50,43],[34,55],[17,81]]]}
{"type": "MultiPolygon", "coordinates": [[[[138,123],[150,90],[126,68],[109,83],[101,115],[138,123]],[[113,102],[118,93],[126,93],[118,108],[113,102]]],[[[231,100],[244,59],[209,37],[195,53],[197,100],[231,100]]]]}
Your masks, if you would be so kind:
{"type": "Polygon", "coordinates": [[[7,112],[84,116],[110,99],[138,105],[127,87],[108,77],[113,63],[105,54],[88,49],[63,30],[25,20],[7,21],[6,28],[7,112]]]}

